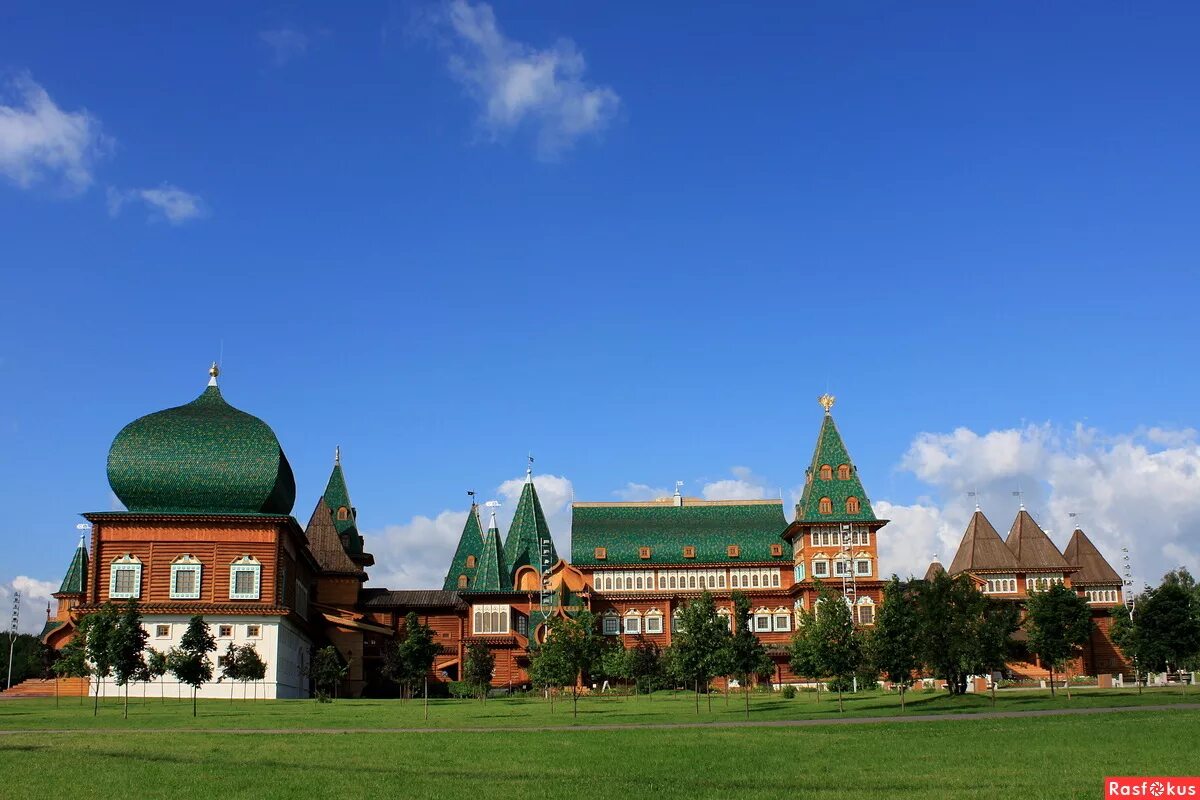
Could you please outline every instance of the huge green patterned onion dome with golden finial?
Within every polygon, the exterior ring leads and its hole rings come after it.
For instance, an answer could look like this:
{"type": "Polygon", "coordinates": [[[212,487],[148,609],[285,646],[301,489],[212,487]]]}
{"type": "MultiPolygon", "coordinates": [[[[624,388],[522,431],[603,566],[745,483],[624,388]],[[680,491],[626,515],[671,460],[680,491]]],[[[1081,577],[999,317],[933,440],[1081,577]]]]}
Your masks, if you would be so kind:
{"type": "Polygon", "coordinates": [[[224,402],[212,365],[191,403],[121,428],[108,483],[130,511],[287,515],[295,477],[270,426],[224,402]]]}

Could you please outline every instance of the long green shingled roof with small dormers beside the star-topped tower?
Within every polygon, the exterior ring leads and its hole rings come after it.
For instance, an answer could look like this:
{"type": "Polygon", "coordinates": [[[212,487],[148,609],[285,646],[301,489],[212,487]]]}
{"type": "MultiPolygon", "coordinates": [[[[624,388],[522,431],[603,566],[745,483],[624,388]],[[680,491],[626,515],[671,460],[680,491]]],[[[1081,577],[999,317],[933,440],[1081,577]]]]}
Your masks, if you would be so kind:
{"type": "Polygon", "coordinates": [[[576,504],[571,515],[571,564],[575,566],[617,566],[623,564],[738,564],[786,561],[788,548],[770,554],[772,545],[782,545],[787,528],[784,504],[773,501],[720,501],[685,499],[682,506],[666,503],[576,504]],[[728,554],[731,545],[738,555],[728,554]],[[605,548],[605,558],[595,551],[605,548]],[[643,559],[640,548],[649,547],[643,559]],[[695,558],[684,558],[683,548],[695,547],[695,558]]]}

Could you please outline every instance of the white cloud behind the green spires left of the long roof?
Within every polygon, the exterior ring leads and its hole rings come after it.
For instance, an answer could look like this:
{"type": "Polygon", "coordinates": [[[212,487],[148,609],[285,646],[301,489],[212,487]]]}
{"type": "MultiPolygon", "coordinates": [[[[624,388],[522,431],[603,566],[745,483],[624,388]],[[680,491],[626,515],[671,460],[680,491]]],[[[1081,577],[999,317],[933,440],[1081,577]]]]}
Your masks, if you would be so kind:
{"type": "MultiPolygon", "coordinates": [[[[546,524],[554,537],[558,554],[570,560],[571,481],[558,475],[534,475],[534,488],[541,501],[546,524]]],[[[504,481],[496,488],[503,505],[497,513],[500,535],[508,534],[516,511],[524,477],[504,481]]],[[[487,525],[487,517],[481,516],[487,525]]],[[[467,523],[467,510],[445,510],[436,517],[416,516],[409,522],[388,525],[380,531],[367,531],[367,551],[376,557],[368,572],[371,585],[389,589],[438,589],[450,569],[458,537],[467,523]]]]}

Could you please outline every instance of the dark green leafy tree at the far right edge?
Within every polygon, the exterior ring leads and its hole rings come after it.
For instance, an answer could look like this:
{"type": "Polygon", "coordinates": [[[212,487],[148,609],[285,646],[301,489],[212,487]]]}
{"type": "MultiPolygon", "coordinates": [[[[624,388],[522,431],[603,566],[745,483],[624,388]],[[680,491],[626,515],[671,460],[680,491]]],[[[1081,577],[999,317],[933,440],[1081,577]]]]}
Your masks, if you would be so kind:
{"type": "MultiPolygon", "coordinates": [[[[1147,670],[1181,669],[1200,657],[1200,610],[1194,594],[1181,581],[1164,579],[1146,591],[1133,624],[1147,670]]],[[[1186,693],[1187,684],[1182,688],[1186,693]]]]}

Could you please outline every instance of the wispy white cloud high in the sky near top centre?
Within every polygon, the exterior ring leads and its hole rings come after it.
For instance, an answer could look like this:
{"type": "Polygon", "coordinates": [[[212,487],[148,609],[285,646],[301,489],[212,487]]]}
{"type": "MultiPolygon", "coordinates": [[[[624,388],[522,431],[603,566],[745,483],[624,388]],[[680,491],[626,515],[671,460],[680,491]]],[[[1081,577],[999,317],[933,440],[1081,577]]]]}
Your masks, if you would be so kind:
{"type": "Polygon", "coordinates": [[[617,92],[583,80],[583,55],[570,40],[547,49],[510,40],[486,2],[451,0],[445,23],[454,32],[450,71],[481,104],[480,124],[493,138],[528,125],[539,156],[552,160],[616,115],[617,92]]]}

